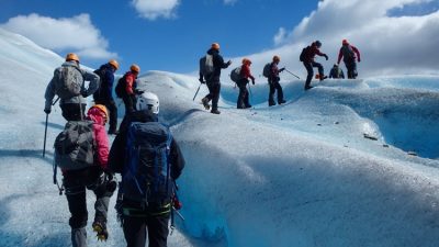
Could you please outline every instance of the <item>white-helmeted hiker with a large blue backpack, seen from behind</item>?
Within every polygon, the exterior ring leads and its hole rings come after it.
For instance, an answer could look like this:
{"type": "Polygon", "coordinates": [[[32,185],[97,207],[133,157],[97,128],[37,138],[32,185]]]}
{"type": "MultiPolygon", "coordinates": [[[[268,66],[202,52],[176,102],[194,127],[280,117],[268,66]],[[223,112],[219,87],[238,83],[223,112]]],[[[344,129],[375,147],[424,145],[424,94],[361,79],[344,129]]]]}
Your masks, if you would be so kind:
{"type": "Polygon", "coordinates": [[[143,92],[136,109],[125,115],[110,150],[110,169],[122,175],[117,216],[127,247],[145,246],[147,236],[150,247],[166,247],[170,211],[176,203],[175,180],[184,168],[184,159],[169,130],[158,123],[157,96],[143,92]],[[156,169],[165,172],[154,172],[156,169]]]}

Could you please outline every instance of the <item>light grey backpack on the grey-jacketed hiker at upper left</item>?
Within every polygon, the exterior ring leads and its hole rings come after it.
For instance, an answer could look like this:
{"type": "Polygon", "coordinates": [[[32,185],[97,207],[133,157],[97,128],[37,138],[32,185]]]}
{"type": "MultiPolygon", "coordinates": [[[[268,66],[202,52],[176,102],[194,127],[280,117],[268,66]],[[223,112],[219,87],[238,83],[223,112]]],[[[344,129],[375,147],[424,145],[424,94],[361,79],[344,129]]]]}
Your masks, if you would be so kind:
{"type": "Polygon", "coordinates": [[[81,71],[75,66],[63,66],[55,70],[55,92],[63,99],[70,99],[81,93],[83,82],[81,71]]]}

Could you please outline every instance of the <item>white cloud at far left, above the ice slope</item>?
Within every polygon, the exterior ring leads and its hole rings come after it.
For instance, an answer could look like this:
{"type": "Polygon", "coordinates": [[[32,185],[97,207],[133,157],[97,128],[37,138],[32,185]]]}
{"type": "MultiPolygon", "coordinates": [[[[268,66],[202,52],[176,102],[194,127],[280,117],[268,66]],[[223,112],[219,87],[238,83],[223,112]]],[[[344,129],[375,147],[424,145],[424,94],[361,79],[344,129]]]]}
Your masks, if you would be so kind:
{"type": "Polygon", "coordinates": [[[0,26],[56,52],[74,52],[81,57],[99,59],[117,56],[108,50],[109,42],[93,26],[89,14],[53,19],[33,13],[11,18],[0,26]]]}

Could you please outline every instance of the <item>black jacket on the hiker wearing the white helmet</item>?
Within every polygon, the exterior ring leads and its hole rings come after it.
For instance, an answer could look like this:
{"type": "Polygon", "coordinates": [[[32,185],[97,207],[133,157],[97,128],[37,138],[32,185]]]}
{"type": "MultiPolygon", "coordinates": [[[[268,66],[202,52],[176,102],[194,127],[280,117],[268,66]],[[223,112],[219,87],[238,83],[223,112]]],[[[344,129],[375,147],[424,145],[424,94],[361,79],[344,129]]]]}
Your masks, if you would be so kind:
{"type": "MultiPolygon", "coordinates": [[[[128,127],[132,122],[157,122],[158,119],[156,115],[151,115],[146,111],[135,111],[130,114],[126,114],[123,119],[120,127],[120,133],[114,138],[113,145],[110,149],[109,155],[109,169],[112,172],[122,173],[125,161],[125,147],[126,147],[126,138],[128,127]]],[[[181,154],[180,147],[177,142],[172,137],[170,155],[169,155],[170,164],[171,164],[171,177],[173,180],[178,179],[181,175],[181,171],[184,168],[184,158],[181,154]]]]}

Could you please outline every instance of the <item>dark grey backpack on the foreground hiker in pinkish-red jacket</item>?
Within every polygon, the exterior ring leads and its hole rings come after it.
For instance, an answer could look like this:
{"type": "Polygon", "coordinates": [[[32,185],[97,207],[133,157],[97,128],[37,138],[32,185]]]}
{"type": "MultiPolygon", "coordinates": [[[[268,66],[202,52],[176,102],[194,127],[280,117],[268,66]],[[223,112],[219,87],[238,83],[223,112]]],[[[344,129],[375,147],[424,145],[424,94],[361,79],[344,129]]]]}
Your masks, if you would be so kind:
{"type": "Polygon", "coordinates": [[[94,165],[93,122],[69,121],[55,139],[55,165],[77,170],[94,165]]]}

